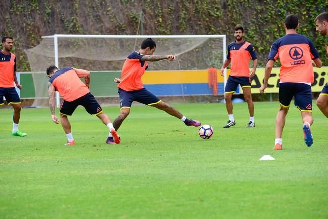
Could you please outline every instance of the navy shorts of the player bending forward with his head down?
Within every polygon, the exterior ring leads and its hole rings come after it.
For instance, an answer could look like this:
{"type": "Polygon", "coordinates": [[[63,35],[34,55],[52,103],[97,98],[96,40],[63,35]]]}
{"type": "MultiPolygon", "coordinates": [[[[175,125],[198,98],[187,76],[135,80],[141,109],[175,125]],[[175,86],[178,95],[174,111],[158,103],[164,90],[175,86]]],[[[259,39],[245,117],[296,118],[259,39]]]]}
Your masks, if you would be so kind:
{"type": "Polygon", "coordinates": [[[60,113],[71,116],[79,105],[83,106],[89,114],[94,116],[103,112],[95,97],[91,93],[88,93],[71,102],[64,100],[60,105],[60,113]]]}

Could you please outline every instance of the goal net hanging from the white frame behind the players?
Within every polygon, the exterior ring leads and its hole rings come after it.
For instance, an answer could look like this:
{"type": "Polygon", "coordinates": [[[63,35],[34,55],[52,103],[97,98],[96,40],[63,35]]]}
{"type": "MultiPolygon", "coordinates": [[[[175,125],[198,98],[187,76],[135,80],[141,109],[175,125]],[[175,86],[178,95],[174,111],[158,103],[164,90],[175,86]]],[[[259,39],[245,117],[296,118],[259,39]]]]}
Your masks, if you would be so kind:
{"type": "MultiPolygon", "coordinates": [[[[212,95],[207,69],[222,66],[226,57],[225,35],[53,35],[42,37],[38,46],[25,50],[31,70],[35,72],[32,74],[33,106],[48,106],[45,71],[50,65],[91,71],[91,93],[107,98],[108,104],[118,103],[113,79],[120,76],[127,56],[138,51],[141,42],[149,37],[156,42],[156,55],[177,56],[175,61],[149,62],[143,82],[150,92],[161,99],[178,101],[212,95]],[[111,98],[116,99],[111,101],[111,98]]],[[[218,83],[218,93],[223,93],[223,86],[218,83]]]]}

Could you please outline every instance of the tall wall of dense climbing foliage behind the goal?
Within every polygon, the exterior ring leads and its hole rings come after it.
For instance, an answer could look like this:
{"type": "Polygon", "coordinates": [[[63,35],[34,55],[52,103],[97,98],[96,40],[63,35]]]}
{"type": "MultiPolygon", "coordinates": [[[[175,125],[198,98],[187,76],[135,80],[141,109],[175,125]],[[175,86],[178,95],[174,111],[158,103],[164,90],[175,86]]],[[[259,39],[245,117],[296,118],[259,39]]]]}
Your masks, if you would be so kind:
{"type": "Polygon", "coordinates": [[[265,66],[291,13],[299,16],[298,32],[313,40],[328,65],[326,39],[314,25],[314,18],[326,11],[326,0],[4,0],[1,5],[0,33],[15,38],[18,71],[30,70],[24,49],[38,45],[45,35],[226,34],[229,43],[235,25],[244,26],[259,66],[265,66]]]}

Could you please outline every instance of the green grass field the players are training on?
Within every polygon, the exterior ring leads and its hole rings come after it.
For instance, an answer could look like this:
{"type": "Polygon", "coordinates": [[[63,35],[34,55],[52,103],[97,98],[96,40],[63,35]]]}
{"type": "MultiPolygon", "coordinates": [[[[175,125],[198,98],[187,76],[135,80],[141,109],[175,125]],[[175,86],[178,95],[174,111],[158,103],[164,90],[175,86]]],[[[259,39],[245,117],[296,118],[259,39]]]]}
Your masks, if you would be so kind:
{"type": "MultiPolygon", "coordinates": [[[[314,104],[315,105],[315,104],[314,104]]],[[[174,104],[196,127],[152,107],[136,105],[107,145],[108,129],[78,108],[70,117],[77,142],[65,146],[49,109],[23,109],[11,137],[12,110],[0,110],[1,218],[327,218],[328,119],[314,108],[314,143],[302,138],[295,107],[287,115],[283,150],[274,151],[277,102],[256,102],[256,128],[245,128],[245,103],[174,104]],[[271,155],[274,161],[259,161],[271,155]]],[[[293,105],[291,105],[293,106],[293,105]]],[[[112,120],[119,108],[104,107],[112,120]]],[[[58,115],[58,113],[57,113],[58,115]]]]}

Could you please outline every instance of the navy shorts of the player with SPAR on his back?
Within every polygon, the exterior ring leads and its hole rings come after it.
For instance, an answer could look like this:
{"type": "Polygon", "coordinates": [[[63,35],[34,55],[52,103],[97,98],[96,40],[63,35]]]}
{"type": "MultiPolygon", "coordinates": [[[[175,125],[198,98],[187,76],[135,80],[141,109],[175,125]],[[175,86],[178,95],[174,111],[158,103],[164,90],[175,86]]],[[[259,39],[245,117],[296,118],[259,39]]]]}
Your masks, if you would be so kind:
{"type": "Polygon", "coordinates": [[[295,98],[295,106],[304,112],[312,112],[311,85],[304,83],[279,83],[279,103],[287,108],[290,101],[295,98]]]}

